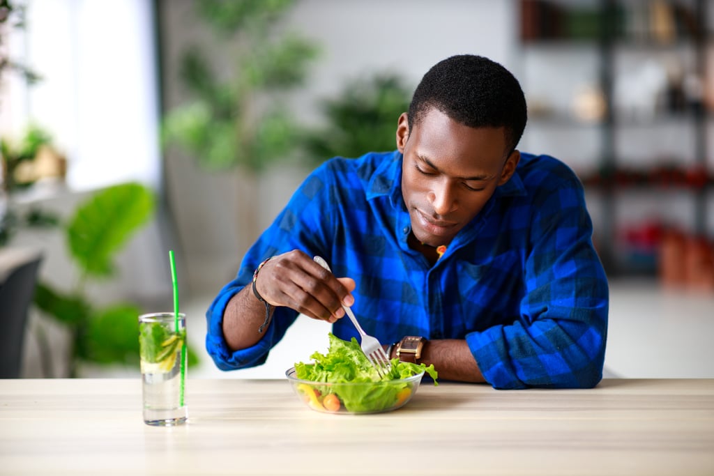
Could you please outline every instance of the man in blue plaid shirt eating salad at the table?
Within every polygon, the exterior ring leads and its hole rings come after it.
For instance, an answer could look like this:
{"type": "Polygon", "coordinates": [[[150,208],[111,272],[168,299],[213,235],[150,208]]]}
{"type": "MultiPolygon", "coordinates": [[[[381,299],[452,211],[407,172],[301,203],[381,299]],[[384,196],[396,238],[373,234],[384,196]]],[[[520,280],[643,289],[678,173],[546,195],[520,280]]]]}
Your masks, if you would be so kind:
{"type": "Polygon", "coordinates": [[[433,363],[442,380],[596,385],[608,283],[583,188],[560,161],[516,150],[525,126],[521,86],[500,64],[433,66],[398,119],[397,150],[324,163],[248,251],[208,309],[216,365],[265,362],[298,313],[357,336],[344,304],[396,343],[392,358],[433,363]]]}

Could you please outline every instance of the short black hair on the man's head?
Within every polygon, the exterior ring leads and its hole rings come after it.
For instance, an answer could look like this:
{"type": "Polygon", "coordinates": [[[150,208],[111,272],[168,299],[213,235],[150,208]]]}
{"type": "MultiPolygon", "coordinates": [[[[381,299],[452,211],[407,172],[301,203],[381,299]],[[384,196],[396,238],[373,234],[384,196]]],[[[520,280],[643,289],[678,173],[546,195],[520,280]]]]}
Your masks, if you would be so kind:
{"type": "Polygon", "coordinates": [[[436,108],[465,126],[504,127],[508,154],[526,128],[528,111],[521,84],[511,71],[483,56],[451,56],[432,66],[409,105],[409,130],[436,108]]]}

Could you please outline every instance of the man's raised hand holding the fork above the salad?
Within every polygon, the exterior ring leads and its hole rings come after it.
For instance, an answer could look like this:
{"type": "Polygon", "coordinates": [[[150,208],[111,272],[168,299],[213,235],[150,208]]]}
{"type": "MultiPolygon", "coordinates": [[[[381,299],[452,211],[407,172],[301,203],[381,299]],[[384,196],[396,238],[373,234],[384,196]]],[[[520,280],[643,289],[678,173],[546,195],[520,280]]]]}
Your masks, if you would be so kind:
{"type": "Polygon", "coordinates": [[[273,256],[258,273],[256,289],[269,304],[287,306],[314,319],[334,323],[353,305],[351,278],[335,275],[299,250],[273,256]]]}

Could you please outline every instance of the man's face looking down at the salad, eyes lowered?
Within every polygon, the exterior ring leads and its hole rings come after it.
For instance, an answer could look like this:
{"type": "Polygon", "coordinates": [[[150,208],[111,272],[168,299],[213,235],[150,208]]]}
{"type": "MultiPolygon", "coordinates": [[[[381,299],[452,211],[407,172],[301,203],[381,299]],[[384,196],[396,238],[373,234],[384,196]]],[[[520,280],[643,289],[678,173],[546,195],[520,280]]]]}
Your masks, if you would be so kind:
{"type": "Polygon", "coordinates": [[[409,131],[399,118],[397,148],[403,153],[402,195],[414,236],[448,245],[475,217],[496,187],[506,183],[520,153],[506,158],[504,128],[471,128],[431,109],[409,131]]]}

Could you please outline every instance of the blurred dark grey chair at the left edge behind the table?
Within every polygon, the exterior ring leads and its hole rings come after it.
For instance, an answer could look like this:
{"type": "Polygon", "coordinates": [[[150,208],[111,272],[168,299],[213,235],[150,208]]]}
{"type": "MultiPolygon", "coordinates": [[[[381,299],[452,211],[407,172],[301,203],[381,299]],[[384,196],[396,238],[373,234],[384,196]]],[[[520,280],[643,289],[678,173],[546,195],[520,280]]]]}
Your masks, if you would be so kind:
{"type": "Polygon", "coordinates": [[[42,256],[4,250],[0,258],[0,378],[19,378],[27,310],[42,256]]]}

